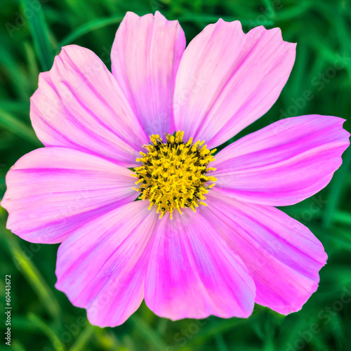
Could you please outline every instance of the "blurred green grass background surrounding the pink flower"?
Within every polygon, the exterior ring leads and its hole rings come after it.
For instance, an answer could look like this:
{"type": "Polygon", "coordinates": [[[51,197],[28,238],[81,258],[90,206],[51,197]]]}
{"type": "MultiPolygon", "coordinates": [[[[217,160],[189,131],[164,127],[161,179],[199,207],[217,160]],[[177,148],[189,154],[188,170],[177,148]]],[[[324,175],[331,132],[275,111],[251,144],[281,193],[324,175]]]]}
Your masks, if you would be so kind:
{"type": "MultiPolygon", "coordinates": [[[[279,100],[235,138],[300,114],[343,117],[351,131],[350,1],[2,0],[0,197],[8,168],[41,147],[29,122],[29,97],[39,72],[51,68],[66,44],[91,48],[110,68],[110,48],[126,11],[143,15],[157,10],[180,21],[187,42],[223,18],[241,20],[245,31],[257,25],[281,27],[286,41],[298,43],[296,64],[279,100]]],[[[329,255],[318,291],[287,317],[256,305],[248,319],[171,322],[143,303],[122,326],[91,326],[85,310],[54,287],[58,245],[31,244],[11,234],[0,208],[0,350],[351,350],[351,299],[345,302],[343,295],[351,295],[350,160],[351,149],[322,192],[284,208],[310,227],[329,255]],[[3,338],[5,274],[11,274],[12,284],[11,347],[3,338]]]]}

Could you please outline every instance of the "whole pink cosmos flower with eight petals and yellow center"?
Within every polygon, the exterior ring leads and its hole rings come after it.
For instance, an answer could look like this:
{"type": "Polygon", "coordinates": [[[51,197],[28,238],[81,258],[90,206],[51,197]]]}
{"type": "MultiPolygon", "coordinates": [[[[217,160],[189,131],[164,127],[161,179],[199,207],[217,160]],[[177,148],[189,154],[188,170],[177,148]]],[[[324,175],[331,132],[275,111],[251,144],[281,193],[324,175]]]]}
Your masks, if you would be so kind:
{"type": "Polygon", "coordinates": [[[144,298],[171,319],[288,314],[316,291],[323,246],[274,206],[329,183],[343,119],[287,118],[209,151],[272,107],[295,51],[278,28],[223,20],[185,49],[177,21],[127,13],[112,74],[74,45],[40,74],[45,147],[11,168],[1,205],[22,239],[62,242],[56,287],[92,324],[117,326],[144,298]]]}

